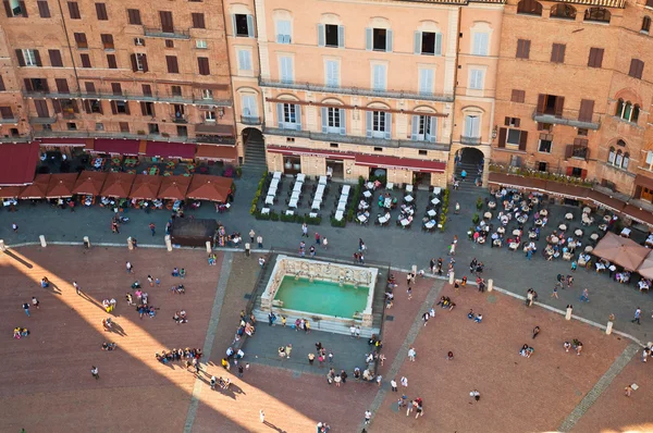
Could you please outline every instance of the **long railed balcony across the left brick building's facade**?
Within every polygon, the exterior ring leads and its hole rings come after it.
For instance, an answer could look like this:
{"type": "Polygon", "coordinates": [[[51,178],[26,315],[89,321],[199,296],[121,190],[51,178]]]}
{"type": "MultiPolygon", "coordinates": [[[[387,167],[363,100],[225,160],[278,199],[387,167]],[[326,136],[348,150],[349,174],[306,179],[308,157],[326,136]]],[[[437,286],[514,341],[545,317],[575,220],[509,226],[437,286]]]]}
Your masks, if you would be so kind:
{"type": "Polygon", "coordinates": [[[23,90],[23,95],[28,98],[53,98],[53,99],[102,99],[111,101],[137,101],[137,102],[170,102],[170,103],[190,103],[207,107],[232,107],[231,99],[205,98],[198,95],[178,95],[164,91],[152,91],[143,94],[138,91],[122,90],[113,91],[76,91],[70,94],[60,94],[57,90],[23,90]]]}

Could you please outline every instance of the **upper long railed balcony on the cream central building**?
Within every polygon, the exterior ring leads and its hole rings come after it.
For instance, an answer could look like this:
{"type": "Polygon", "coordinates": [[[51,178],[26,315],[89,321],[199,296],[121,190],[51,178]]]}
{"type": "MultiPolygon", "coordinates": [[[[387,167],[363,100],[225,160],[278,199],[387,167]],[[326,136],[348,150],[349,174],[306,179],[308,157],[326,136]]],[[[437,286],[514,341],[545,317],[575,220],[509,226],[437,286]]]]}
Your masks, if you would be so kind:
{"type": "Polygon", "coordinates": [[[404,90],[374,90],[361,87],[331,87],[323,85],[315,85],[310,83],[284,83],[280,81],[263,79],[259,77],[259,86],[261,87],[275,87],[292,90],[307,90],[321,94],[337,94],[337,95],[357,95],[357,96],[370,96],[373,98],[396,98],[396,99],[416,99],[421,101],[440,101],[440,102],[453,102],[453,94],[423,94],[417,91],[404,91],[404,90]]]}

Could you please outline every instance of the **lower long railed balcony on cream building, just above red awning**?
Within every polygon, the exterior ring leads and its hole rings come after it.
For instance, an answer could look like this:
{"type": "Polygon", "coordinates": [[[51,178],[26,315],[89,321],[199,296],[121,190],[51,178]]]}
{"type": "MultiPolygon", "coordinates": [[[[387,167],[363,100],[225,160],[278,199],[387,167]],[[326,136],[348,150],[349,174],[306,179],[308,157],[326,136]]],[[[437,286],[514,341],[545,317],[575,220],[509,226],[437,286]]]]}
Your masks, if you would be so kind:
{"type": "Polygon", "coordinates": [[[444,143],[431,143],[431,141],[418,141],[418,140],[401,140],[392,138],[373,138],[373,137],[360,137],[355,135],[340,135],[340,134],[328,134],[328,133],[313,133],[310,131],[297,131],[297,129],[285,129],[278,127],[268,127],[263,125],[263,134],[285,136],[285,137],[299,137],[308,138],[315,141],[325,143],[342,143],[348,145],[360,145],[371,147],[387,147],[387,148],[412,148],[420,150],[444,150],[449,149],[448,144],[444,143]]]}

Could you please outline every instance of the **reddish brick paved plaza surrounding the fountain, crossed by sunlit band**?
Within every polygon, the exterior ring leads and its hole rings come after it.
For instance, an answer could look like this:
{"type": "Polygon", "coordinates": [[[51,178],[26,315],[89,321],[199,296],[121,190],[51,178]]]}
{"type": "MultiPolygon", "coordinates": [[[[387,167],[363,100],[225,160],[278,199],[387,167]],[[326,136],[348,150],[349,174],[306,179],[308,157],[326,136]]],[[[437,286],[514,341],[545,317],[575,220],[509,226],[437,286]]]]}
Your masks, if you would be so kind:
{"type": "MultiPolygon", "coordinates": [[[[408,300],[405,274],[399,272],[395,272],[401,283],[395,305],[384,324],[387,359],[380,368],[381,388],[355,383],[352,372],[347,384],[329,386],[325,371],[249,360],[247,345],[245,361],[250,361],[250,369],[245,376],[225,373],[220,358],[231,344],[259,267],[256,255],[218,257],[218,264],[209,267],[201,250],[63,246],[23,247],[0,256],[0,355],[5,360],[0,373],[0,431],[63,432],[75,426],[76,431],[299,433],[326,421],[333,432],[357,432],[368,408],[375,411],[371,432],[527,432],[557,431],[562,425],[578,432],[651,431],[642,425],[651,422],[652,383],[646,371],[651,367],[639,360],[641,351],[634,355],[630,341],[567,322],[540,307],[527,309],[519,299],[497,292],[480,294],[468,286],[455,294],[441,280],[419,279],[408,300]],[[125,271],[126,260],[135,267],[133,275],[125,271]],[[186,295],[170,292],[180,282],[170,276],[174,267],[187,271],[186,295]],[[161,287],[148,287],[148,274],[160,277],[161,287]],[[42,276],[56,288],[41,288],[42,276]],[[160,308],[155,319],[140,320],[126,306],[124,295],[136,279],[149,292],[150,304],[160,308]],[[84,296],[75,294],[73,280],[84,296]],[[435,319],[422,326],[421,313],[442,295],[451,296],[456,309],[438,308],[435,319]],[[27,318],[21,305],[32,296],[40,300],[40,309],[32,308],[27,318]],[[111,297],[119,304],[108,314],[99,302],[111,297]],[[171,317],[182,308],[189,322],[177,325],[171,317]],[[467,319],[469,308],[483,314],[481,324],[467,319]],[[100,322],[107,316],[113,317],[121,334],[102,331],[100,322]],[[533,341],[535,325],[542,332],[533,341]],[[13,339],[15,326],[28,327],[32,334],[13,339]],[[583,343],[581,356],[564,351],[563,342],[572,338],[583,343]],[[100,350],[103,341],[116,342],[118,350],[100,350]],[[535,349],[530,359],[518,355],[523,343],[535,349]],[[406,360],[410,344],[418,351],[414,363],[406,360]],[[198,379],[181,364],[167,367],[155,359],[157,351],[173,347],[205,349],[207,363],[198,379]],[[455,355],[452,361],[445,359],[448,350],[455,355]],[[94,364],[100,370],[98,381],[90,375],[94,364]],[[231,389],[211,391],[212,374],[229,375],[231,389]],[[409,380],[408,398],[424,399],[421,419],[397,411],[397,393],[390,392],[389,382],[402,375],[409,380]],[[630,383],[640,388],[627,398],[623,388],[630,383]],[[473,388],[481,392],[478,404],[469,397],[473,388]],[[259,409],[266,411],[264,424],[259,409]]],[[[267,329],[251,342],[276,337],[275,332],[267,329]]],[[[343,350],[334,348],[336,357],[349,355],[343,350]]],[[[293,356],[300,363],[306,354],[293,356]]]]}

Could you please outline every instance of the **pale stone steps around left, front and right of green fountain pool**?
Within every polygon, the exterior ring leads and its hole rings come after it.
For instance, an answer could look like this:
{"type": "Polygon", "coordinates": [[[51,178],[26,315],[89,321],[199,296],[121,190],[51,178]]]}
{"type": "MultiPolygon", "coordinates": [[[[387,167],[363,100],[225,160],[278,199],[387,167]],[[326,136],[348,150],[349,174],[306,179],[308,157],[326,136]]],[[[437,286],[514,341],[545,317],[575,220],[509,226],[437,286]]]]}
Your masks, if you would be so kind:
{"type": "MultiPolygon", "coordinates": [[[[268,322],[268,312],[261,310],[260,294],[263,293],[263,290],[268,284],[268,281],[270,280],[270,276],[272,275],[272,270],[274,268],[275,260],[276,260],[276,253],[273,253],[268,259],[268,263],[267,263],[266,268],[263,269],[263,274],[262,274],[261,279],[259,280],[259,285],[256,290],[257,296],[254,301],[252,312],[254,312],[254,316],[256,317],[256,320],[261,323],[268,322]]],[[[372,302],[372,327],[371,329],[361,329],[361,332],[360,332],[360,335],[366,338],[371,337],[372,334],[379,335],[379,333],[381,332],[381,325],[382,325],[382,320],[383,320],[383,308],[385,307],[384,288],[385,288],[385,281],[387,280],[387,270],[380,268],[378,277],[379,277],[379,280],[377,281],[377,286],[374,289],[374,299],[372,302]]],[[[285,312],[282,308],[278,308],[278,307],[274,309],[274,311],[275,311],[275,313],[278,313],[278,316],[279,316],[279,313],[283,314],[286,318],[286,323],[288,323],[288,324],[295,323],[295,320],[297,320],[297,319],[309,319],[310,324],[311,324],[311,330],[313,330],[313,331],[324,331],[324,332],[332,332],[334,334],[349,335],[349,326],[352,326],[352,324],[354,324],[354,321],[350,321],[350,322],[343,322],[343,321],[335,321],[335,320],[313,321],[310,319],[310,314],[297,316],[291,311],[285,312]]]]}

